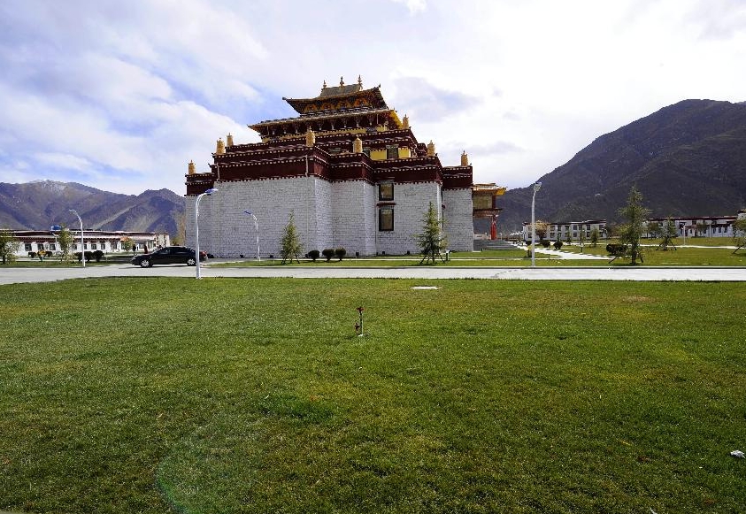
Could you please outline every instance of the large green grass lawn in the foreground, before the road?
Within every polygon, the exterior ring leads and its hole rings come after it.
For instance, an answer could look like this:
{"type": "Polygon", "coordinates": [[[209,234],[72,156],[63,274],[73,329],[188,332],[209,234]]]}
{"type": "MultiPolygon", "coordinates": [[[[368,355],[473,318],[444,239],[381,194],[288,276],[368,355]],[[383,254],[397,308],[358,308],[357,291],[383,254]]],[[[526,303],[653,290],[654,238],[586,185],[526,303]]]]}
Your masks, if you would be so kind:
{"type": "Polygon", "coordinates": [[[739,283],[2,286],[0,510],[742,512],[744,303],[739,283]]]}

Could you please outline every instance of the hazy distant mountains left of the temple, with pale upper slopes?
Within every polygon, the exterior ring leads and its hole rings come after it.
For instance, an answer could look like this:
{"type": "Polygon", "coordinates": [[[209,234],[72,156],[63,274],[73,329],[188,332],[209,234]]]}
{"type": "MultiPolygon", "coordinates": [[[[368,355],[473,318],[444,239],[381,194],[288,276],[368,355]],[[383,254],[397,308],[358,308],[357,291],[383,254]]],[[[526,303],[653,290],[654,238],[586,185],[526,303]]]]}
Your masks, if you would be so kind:
{"type": "Polygon", "coordinates": [[[177,219],[184,212],[184,198],[170,189],[135,196],[75,182],[0,182],[0,227],[46,230],[52,225],[78,226],[70,209],[78,211],[85,228],[174,235],[177,219]]]}

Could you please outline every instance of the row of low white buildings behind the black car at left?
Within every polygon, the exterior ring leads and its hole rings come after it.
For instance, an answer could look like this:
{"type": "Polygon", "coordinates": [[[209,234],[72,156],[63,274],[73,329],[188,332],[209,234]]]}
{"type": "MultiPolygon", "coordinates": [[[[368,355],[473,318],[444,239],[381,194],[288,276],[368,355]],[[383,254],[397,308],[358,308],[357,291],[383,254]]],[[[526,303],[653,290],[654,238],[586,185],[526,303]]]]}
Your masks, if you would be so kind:
{"type": "MultiPolygon", "coordinates": [[[[32,257],[40,251],[50,252],[52,255],[61,253],[58,242],[58,230],[12,230],[19,242],[15,251],[16,257],[32,257]]],[[[73,252],[81,251],[81,231],[70,229],[73,236],[73,252]]],[[[171,244],[169,234],[156,232],[109,232],[104,230],[83,230],[83,249],[86,251],[101,250],[105,254],[126,251],[145,251],[158,246],[171,244]]]]}

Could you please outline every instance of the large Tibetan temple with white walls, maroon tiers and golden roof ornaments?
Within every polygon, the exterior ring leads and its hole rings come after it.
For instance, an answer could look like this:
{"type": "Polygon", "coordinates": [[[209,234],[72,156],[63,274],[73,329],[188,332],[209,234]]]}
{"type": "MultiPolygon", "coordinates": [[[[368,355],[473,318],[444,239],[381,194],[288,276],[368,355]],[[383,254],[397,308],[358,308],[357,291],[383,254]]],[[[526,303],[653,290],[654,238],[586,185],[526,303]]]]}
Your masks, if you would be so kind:
{"type": "Polygon", "coordinates": [[[283,99],[298,115],[251,125],[261,142],[235,144],[228,134],[217,143],[209,173],[189,163],[188,245],[195,246],[196,196],[216,188],[199,203],[200,248],[216,257],[256,257],[257,246],[261,257],[278,256],[291,212],[304,252],[417,254],[416,234],[431,202],[449,248],[473,250],[473,178],[465,153],[460,165],[442,165],[433,142],[419,142],[381,87],[365,89],[359,77],[351,85],[324,82],[313,98],[283,99]],[[246,211],[256,217],[259,244],[246,211]]]}

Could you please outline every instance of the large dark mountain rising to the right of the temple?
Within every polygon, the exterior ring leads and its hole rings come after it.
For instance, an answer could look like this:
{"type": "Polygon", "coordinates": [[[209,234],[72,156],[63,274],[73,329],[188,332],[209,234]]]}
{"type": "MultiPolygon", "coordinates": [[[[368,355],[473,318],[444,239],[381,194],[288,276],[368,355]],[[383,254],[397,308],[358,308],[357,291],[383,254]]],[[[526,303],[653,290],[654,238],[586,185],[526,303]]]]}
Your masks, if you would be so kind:
{"type": "MultiPolygon", "coordinates": [[[[734,215],[746,207],[746,104],[684,100],[604,134],[542,176],[536,218],[609,219],[633,184],[653,217],[734,215]]],[[[532,189],[507,191],[500,232],[531,219],[532,189]]]]}

